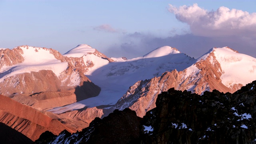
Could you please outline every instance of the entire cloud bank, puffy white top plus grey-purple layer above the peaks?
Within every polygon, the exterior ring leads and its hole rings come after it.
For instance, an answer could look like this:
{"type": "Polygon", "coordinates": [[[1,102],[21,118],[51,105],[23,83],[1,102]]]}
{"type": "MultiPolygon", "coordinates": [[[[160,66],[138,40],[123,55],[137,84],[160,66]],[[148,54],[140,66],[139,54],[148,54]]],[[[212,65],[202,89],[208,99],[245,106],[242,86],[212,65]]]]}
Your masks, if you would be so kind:
{"type": "Polygon", "coordinates": [[[135,58],[161,46],[176,47],[188,56],[198,58],[213,47],[229,46],[240,53],[256,58],[256,13],[226,8],[208,11],[197,4],[176,8],[169,4],[169,12],[180,22],[190,26],[190,32],[159,37],[134,32],[120,37],[120,43],[109,47],[109,56],[135,58]],[[115,53],[111,53],[111,52],[115,53]]]}

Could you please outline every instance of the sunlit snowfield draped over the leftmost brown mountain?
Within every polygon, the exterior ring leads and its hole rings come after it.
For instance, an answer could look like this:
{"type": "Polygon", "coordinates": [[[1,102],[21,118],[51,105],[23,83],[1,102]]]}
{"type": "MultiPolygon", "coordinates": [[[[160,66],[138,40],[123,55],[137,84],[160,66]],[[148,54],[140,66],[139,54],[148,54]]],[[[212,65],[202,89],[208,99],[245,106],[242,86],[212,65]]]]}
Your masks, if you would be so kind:
{"type": "Polygon", "coordinates": [[[52,70],[56,76],[60,76],[60,73],[68,67],[68,63],[56,59],[54,55],[50,53],[50,49],[36,48],[32,46],[20,46],[19,48],[23,52],[21,56],[24,58],[24,61],[12,66],[4,65],[0,69],[0,72],[2,73],[0,82],[16,74],[38,72],[40,70],[52,70]]]}

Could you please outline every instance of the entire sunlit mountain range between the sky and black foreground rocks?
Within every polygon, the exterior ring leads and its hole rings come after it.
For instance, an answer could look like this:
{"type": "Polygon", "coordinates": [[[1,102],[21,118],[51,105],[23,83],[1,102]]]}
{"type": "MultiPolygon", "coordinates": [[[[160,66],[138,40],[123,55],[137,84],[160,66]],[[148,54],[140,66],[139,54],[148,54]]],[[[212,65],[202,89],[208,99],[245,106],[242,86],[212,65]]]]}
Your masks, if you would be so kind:
{"type": "Polygon", "coordinates": [[[170,88],[233,93],[256,80],[256,58],[228,47],[212,48],[198,59],[170,46],[130,60],[108,58],[86,44],[63,55],[32,46],[0,54],[0,94],[6,96],[1,103],[22,107],[2,105],[0,122],[31,140],[46,130],[56,135],[80,131],[115,109],[130,108],[143,117],[156,107],[158,94],[170,88]]]}

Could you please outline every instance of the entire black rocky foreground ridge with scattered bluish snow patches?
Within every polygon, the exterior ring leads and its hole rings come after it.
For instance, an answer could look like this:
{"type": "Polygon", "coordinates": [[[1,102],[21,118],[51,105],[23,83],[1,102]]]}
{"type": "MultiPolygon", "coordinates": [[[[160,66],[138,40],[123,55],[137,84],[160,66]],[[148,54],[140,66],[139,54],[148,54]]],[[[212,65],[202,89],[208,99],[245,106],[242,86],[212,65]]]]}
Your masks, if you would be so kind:
{"type": "Polygon", "coordinates": [[[256,81],[233,94],[171,88],[143,119],[130,109],[115,110],[81,132],[45,132],[35,143],[256,144],[255,99],[256,81]]]}

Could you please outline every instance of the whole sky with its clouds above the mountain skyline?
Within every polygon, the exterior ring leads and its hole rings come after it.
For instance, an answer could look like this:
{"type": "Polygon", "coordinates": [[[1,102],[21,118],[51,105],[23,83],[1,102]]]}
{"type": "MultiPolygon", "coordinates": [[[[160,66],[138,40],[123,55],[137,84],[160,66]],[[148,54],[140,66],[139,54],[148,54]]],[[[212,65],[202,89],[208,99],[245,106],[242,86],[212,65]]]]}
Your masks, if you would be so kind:
{"type": "Polygon", "coordinates": [[[61,54],[88,44],[136,58],[171,46],[198,58],[228,46],[256,58],[255,0],[0,0],[0,48],[61,54]]]}

